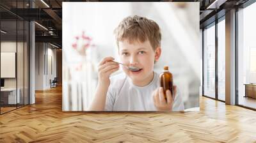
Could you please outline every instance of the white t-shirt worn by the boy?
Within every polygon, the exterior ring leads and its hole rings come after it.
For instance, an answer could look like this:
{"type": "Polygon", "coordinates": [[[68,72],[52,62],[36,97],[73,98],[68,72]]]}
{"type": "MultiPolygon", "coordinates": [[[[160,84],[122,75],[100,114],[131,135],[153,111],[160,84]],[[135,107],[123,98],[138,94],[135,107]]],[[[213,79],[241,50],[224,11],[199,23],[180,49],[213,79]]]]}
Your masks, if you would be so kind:
{"type": "MultiPolygon", "coordinates": [[[[135,86],[132,80],[119,73],[110,78],[110,86],[106,96],[106,111],[156,111],[153,100],[153,91],[160,86],[159,75],[154,72],[154,79],[143,87],[135,86]]],[[[177,90],[173,111],[184,110],[182,97],[177,90]]]]}

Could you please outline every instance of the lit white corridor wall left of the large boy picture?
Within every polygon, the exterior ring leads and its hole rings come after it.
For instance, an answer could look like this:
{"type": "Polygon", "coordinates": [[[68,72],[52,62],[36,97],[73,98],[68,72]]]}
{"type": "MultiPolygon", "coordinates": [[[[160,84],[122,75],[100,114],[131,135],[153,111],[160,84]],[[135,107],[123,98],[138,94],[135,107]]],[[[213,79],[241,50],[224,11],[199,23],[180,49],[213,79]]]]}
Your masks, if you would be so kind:
{"type": "Polygon", "coordinates": [[[48,43],[36,43],[36,90],[44,90],[51,88],[50,79],[53,80],[54,77],[56,77],[56,49],[53,48],[54,47],[52,47],[48,43]]]}

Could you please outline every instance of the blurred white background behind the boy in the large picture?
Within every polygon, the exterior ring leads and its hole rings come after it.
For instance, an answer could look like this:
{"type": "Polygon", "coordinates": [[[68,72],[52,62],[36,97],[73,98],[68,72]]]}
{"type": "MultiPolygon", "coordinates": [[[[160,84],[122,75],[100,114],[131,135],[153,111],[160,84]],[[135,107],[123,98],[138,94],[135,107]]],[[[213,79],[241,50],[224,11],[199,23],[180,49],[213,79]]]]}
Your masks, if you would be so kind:
{"type": "Polygon", "coordinates": [[[157,22],[163,52],[155,72],[169,66],[185,109],[199,107],[202,57],[198,13],[199,3],[63,3],[63,110],[88,108],[97,86],[97,64],[106,56],[118,61],[113,30],[130,15],[157,22]],[[92,38],[86,52],[81,50],[86,44],[82,35],[92,38]]]}

